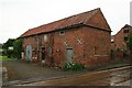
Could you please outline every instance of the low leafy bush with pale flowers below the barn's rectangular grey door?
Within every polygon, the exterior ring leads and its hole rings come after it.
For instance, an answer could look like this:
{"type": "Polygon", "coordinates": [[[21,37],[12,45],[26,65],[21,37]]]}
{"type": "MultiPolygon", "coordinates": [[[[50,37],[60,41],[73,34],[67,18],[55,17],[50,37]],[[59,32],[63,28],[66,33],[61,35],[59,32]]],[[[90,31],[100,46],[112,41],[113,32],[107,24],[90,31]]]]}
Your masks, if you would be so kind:
{"type": "Polygon", "coordinates": [[[85,66],[76,63],[65,63],[63,70],[84,70],[85,66]]]}

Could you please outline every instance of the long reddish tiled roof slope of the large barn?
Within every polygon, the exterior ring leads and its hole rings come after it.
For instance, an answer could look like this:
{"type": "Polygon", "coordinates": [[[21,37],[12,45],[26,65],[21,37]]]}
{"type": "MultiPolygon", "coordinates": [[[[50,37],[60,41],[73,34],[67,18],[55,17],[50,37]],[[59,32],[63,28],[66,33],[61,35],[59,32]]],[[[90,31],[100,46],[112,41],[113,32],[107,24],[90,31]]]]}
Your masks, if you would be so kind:
{"type": "Polygon", "coordinates": [[[30,35],[40,34],[40,33],[47,33],[47,32],[56,31],[58,29],[63,29],[66,26],[72,26],[80,23],[88,24],[88,20],[90,20],[98,11],[100,11],[100,8],[88,11],[88,12],[75,14],[69,18],[65,18],[48,24],[37,26],[37,28],[33,28],[26,31],[25,33],[23,33],[20,37],[25,37],[30,35]]]}

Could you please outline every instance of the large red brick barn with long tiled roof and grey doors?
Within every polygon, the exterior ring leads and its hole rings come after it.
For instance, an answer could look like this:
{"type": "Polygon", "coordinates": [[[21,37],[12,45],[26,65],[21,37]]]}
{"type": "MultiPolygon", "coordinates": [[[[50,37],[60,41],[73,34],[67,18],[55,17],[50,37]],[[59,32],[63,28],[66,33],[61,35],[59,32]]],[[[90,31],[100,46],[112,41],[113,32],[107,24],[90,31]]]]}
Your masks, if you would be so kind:
{"type": "Polygon", "coordinates": [[[99,8],[31,29],[20,37],[25,61],[45,59],[46,65],[59,67],[81,63],[87,67],[110,59],[111,29],[99,8]]]}

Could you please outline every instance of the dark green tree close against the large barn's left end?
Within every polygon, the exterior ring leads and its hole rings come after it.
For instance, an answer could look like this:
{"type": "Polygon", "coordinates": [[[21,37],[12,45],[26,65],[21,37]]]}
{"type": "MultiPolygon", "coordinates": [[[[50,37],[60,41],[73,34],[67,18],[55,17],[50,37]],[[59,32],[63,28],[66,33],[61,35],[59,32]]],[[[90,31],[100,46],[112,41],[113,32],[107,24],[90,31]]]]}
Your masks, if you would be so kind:
{"type": "Polygon", "coordinates": [[[21,52],[22,52],[22,40],[21,38],[16,38],[14,42],[13,42],[13,57],[15,58],[21,58],[21,52]]]}

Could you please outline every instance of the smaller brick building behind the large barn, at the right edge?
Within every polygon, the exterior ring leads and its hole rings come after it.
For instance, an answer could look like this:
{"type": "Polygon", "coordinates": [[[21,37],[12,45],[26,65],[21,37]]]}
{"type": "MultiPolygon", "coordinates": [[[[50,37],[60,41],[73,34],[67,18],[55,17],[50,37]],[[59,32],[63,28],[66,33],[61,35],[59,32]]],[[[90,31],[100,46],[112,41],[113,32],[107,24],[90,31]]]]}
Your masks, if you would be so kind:
{"type": "Polygon", "coordinates": [[[132,33],[132,26],[125,24],[121,30],[111,37],[111,45],[113,51],[128,51],[127,43],[129,41],[129,34],[132,33]]]}

